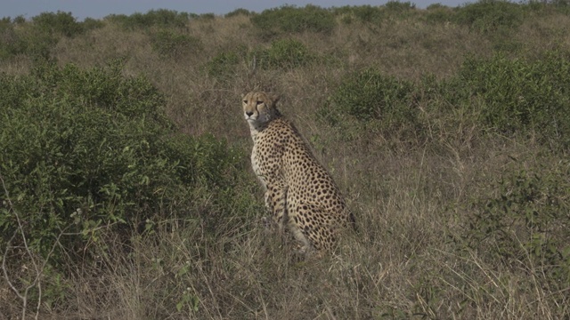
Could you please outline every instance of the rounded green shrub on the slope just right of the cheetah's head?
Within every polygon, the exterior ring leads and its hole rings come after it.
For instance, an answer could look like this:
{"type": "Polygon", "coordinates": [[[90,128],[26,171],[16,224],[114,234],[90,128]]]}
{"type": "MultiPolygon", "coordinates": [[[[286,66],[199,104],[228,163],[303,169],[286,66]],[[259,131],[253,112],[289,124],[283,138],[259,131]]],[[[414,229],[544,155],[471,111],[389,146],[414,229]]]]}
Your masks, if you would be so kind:
{"type": "Polygon", "coordinates": [[[333,126],[342,140],[362,140],[362,134],[373,132],[387,148],[409,150],[425,135],[415,96],[410,82],[365,68],[347,76],[317,108],[316,116],[333,126]]]}

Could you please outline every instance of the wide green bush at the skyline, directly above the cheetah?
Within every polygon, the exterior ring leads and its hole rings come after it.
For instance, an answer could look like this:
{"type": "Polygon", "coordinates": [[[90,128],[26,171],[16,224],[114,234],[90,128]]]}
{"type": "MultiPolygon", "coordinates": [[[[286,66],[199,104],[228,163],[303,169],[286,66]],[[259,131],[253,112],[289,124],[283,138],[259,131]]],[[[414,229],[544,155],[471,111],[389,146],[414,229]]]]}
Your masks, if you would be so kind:
{"type": "Polygon", "coordinates": [[[262,36],[305,31],[328,34],[336,27],[332,12],[307,4],[304,8],[285,5],[268,9],[251,17],[251,23],[262,36]]]}

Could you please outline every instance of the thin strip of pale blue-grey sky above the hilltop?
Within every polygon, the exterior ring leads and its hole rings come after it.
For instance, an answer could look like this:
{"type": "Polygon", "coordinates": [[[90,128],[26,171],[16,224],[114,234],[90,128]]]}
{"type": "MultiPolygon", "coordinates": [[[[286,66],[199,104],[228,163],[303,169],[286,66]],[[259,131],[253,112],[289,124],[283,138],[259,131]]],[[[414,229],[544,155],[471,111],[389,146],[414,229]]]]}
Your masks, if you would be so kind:
{"type": "MultiPolygon", "coordinates": [[[[417,8],[426,8],[429,4],[444,4],[455,7],[469,0],[405,0],[416,4],[417,8]]],[[[403,1],[403,2],[405,2],[403,1]]],[[[71,12],[77,20],[85,18],[101,19],[110,14],[131,15],[134,12],[149,12],[156,9],[168,9],[176,12],[215,13],[223,15],[235,9],[244,8],[253,12],[279,7],[284,4],[305,6],[319,5],[325,8],[343,5],[381,5],[387,0],[0,0],[0,18],[23,16],[26,19],[42,12],[71,12]]]]}

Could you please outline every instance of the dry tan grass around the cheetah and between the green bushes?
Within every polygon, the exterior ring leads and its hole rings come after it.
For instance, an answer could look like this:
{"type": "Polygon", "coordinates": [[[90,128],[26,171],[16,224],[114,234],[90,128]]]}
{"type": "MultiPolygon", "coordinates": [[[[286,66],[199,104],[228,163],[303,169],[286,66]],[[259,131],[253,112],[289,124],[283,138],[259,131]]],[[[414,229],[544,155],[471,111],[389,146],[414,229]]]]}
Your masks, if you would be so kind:
{"type": "MultiPolygon", "coordinates": [[[[313,52],[338,57],[333,66],[252,73],[246,61],[227,82],[206,75],[203,65],[218,52],[240,44],[249,50],[269,45],[256,38],[244,16],[191,22],[183,32],[198,37],[203,49],[179,60],[160,58],[147,33],[113,24],[61,39],[53,49],[61,64],[89,68],[125,58],[127,73],[148,76],[164,92],[167,113],[182,132],[212,132],[245,150],[250,141],[240,116],[240,94],[253,88],[278,92],[283,113],[311,141],[345,191],[359,231],[347,236],[337,255],[323,260],[299,259],[288,241],[268,233],[259,220],[240,220],[231,212],[219,221],[215,236],[191,217],[164,221],[162,231],[135,239],[129,252],[109,235],[102,241],[97,264],[71,270],[67,284],[73,299],[68,305],[43,306],[40,317],[554,319],[570,315],[567,291],[558,292],[566,294],[561,300],[537,273],[489,260],[485,252],[458,250],[452,241],[467,223],[471,199],[492,192],[492,182],[513,158],[526,159],[523,165],[528,167],[543,161],[542,146],[532,140],[485,136],[470,121],[471,115],[446,119],[426,111],[428,140],[414,148],[405,144],[395,148],[394,141],[379,132],[358,127],[347,139],[346,132],[314,116],[355,69],[378,66],[412,81],[425,74],[442,78],[454,74],[466,54],[493,53],[485,36],[465,27],[392,22],[374,28],[340,24],[330,36],[294,36],[313,52]],[[555,294],[558,300],[552,299],[555,294]]],[[[535,18],[525,22],[515,37],[529,54],[554,44],[568,48],[561,31],[568,23],[568,17],[561,15],[535,18]]],[[[20,74],[28,65],[26,59],[18,59],[0,68],[20,74]]],[[[250,178],[254,180],[253,174],[250,178]]],[[[520,263],[528,266],[529,261],[520,263]]],[[[19,316],[18,303],[0,283],[4,305],[0,319],[19,316]]]]}

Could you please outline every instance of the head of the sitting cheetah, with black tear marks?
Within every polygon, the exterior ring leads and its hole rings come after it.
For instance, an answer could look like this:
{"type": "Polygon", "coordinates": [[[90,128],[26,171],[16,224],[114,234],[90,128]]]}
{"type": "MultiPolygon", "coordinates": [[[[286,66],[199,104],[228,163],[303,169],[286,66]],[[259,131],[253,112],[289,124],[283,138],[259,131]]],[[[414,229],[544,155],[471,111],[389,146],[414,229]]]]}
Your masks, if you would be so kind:
{"type": "Polygon", "coordinates": [[[263,127],[275,117],[279,116],[279,111],[275,104],[279,97],[265,92],[249,92],[243,96],[243,115],[249,125],[254,128],[263,127]]]}

